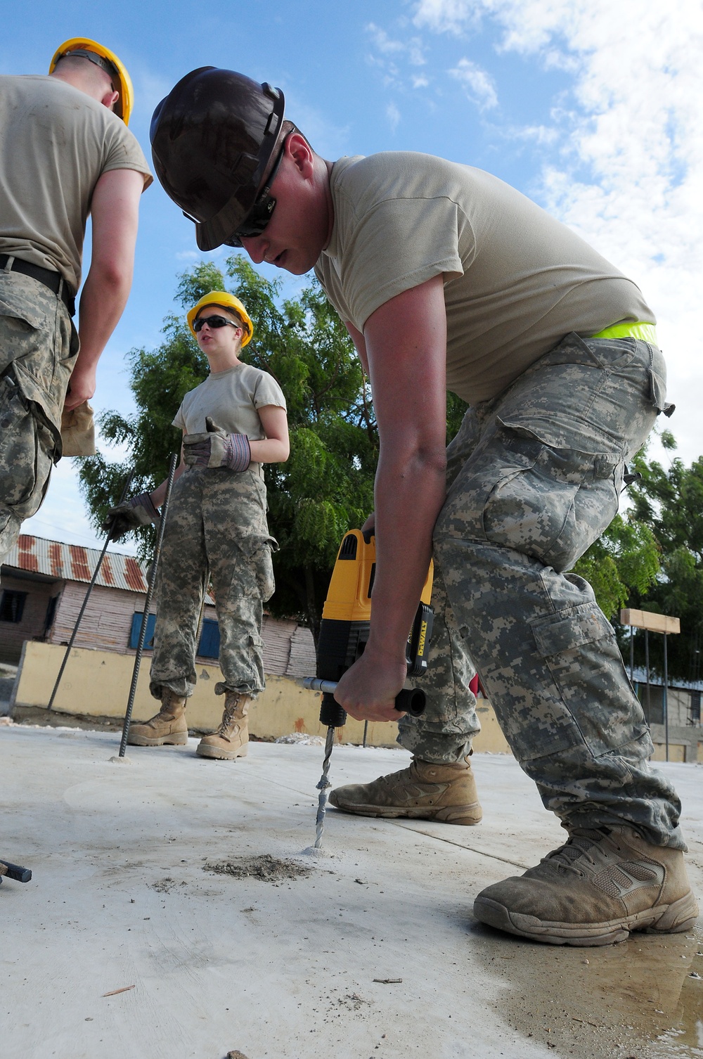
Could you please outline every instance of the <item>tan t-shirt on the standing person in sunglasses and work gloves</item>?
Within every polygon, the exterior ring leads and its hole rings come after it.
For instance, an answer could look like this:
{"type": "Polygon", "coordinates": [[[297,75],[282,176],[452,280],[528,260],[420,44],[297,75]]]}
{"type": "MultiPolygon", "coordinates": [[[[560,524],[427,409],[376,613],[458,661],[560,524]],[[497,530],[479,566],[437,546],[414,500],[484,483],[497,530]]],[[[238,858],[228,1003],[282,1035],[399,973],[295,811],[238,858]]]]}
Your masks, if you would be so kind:
{"type": "Polygon", "coordinates": [[[268,372],[251,364],[235,364],[224,372],[212,372],[204,382],[190,390],[176,413],[174,426],[186,434],[208,429],[205,417],[228,434],[246,434],[250,442],[266,437],[257,409],[265,405],[286,408],[286,398],[268,372]]]}

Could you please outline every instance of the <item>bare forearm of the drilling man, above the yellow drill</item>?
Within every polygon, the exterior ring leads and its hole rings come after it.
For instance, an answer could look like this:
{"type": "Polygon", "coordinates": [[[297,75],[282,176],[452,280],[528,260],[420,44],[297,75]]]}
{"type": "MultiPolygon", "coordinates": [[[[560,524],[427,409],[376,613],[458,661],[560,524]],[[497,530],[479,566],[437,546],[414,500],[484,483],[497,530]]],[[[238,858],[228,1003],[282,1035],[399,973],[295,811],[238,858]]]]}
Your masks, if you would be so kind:
{"type": "Polygon", "coordinates": [[[444,453],[387,459],[376,474],[376,575],[366,650],[404,659],[446,495],[444,453]]]}

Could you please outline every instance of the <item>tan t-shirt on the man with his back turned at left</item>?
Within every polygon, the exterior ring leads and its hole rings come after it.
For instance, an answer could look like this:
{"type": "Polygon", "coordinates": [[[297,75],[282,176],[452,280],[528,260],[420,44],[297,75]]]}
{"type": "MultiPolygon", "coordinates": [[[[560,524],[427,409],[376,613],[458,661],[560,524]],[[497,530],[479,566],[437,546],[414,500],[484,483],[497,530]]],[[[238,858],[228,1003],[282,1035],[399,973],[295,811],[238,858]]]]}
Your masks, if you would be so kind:
{"type": "Polygon", "coordinates": [[[154,179],[136,137],[57,77],[0,76],[0,253],[60,272],[75,293],[86,220],[110,169],[154,179]]]}

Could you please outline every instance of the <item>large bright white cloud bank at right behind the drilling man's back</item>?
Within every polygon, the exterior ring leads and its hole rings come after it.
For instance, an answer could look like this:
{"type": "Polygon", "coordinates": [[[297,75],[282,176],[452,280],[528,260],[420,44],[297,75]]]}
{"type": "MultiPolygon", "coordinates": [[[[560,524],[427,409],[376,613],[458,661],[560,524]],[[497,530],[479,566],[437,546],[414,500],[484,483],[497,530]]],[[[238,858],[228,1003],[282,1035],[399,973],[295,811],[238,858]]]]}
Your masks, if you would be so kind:
{"type": "Polygon", "coordinates": [[[692,459],[703,452],[703,8],[699,0],[419,0],[414,23],[458,35],[482,17],[503,30],[501,51],[572,73],[574,105],[553,113],[542,198],[654,308],[678,405],[670,427],[692,459]]]}

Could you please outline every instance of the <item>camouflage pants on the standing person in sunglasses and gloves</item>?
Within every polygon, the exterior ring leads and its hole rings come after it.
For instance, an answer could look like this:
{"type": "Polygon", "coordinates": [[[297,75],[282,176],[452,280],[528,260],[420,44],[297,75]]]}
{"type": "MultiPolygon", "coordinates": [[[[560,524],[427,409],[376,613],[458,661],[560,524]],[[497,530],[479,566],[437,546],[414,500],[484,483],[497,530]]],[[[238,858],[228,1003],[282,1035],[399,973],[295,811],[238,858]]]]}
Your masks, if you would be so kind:
{"type": "Polygon", "coordinates": [[[266,486],[241,473],[188,467],[174,484],[157,575],[150,690],[193,695],[198,622],[212,577],[224,676],[215,694],[264,690],[264,604],[273,595],[266,486]]]}

